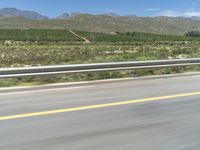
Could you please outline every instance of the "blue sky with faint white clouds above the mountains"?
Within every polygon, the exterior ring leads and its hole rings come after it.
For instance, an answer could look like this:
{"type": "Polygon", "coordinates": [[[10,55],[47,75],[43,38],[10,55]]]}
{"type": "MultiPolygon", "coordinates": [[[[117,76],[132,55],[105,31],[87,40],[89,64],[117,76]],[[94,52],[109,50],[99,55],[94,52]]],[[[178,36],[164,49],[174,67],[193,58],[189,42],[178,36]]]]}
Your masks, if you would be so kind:
{"type": "Polygon", "coordinates": [[[49,17],[63,12],[137,16],[200,16],[200,0],[0,0],[0,8],[34,10],[49,17]]]}

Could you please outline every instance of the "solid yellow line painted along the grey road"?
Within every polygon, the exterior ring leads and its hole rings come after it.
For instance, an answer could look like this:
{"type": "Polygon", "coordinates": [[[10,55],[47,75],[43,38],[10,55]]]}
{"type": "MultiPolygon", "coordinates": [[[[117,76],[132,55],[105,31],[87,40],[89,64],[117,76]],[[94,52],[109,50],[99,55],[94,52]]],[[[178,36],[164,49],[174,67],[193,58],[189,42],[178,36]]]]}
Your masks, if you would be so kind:
{"type": "Polygon", "coordinates": [[[28,118],[28,117],[36,117],[36,116],[53,115],[53,114],[90,110],[90,109],[97,109],[97,108],[106,108],[106,107],[128,105],[128,104],[135,104],[135,103],[142,103],[142,102],[161,101],[161,100],[180,98],[180,97],[189,97],[189,96],[195,96],[195,95],[200,95],[200,92],[176,94],[176,95],[152,97],[152,98],[144,98],[144,99],[136,99],[136,100],[128,100],[128,101],[120,101],[120,102],[97,104],[97,105],[90,105],[90,106],[72,107],[72,108],[57,109],[57,110],[50,110],[50,111],[18,114],[18,115],[12,115],[12,116],[2,116],[2,117],[0,117],[0,121],[14,120],[14,119],[28,118]]]}

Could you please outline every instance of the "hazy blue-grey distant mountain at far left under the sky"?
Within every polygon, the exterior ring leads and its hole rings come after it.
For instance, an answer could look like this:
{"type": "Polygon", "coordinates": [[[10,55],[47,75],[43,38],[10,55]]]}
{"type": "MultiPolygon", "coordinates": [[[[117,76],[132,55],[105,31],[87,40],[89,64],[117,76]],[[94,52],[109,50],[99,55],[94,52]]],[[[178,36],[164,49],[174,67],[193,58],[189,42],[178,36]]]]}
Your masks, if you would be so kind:
{"type": "Polygon", "coordinates": [[[2,8],[0,9],[0,16],[1,17],[22,17],[22,18],[32,19],[32,20],[48,19],[48,17],[43,16],[37,12],[19,10],[16,8],[2,8]]]}

